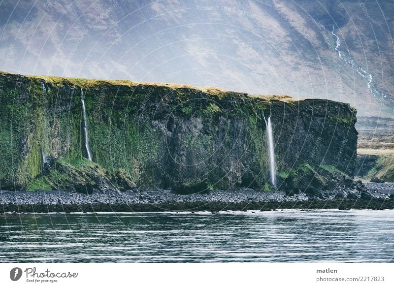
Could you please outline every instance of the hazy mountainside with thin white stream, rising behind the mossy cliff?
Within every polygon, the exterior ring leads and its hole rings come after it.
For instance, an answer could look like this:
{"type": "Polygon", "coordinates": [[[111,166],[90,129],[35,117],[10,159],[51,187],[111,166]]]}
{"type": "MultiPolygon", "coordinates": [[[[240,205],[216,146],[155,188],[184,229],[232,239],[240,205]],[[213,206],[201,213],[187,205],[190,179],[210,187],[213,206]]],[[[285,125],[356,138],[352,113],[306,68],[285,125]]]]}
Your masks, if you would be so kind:
{"type": "Polygon", "coordinates": [[[0,70],[333,99],[394,116],[393,1],[0,2],[0,70]]]}

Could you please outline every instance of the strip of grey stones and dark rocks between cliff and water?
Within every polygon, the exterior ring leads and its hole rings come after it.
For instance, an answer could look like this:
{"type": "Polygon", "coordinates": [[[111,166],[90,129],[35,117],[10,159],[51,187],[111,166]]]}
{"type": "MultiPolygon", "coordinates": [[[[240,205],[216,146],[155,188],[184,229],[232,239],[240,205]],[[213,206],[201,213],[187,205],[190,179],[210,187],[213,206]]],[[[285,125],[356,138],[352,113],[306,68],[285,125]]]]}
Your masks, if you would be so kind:
{"type": "MultiPolygon", "coordinates": [[[[388,184],[389,186],[390,184],[388,184]]],[[[380,186],[382,188],[382,186],[380,186]]],[[[313,194],[285,191],[210,191],[179,194],[170,190],[0,191],[0,212],[149,212],[247,209],[393,209],[394,196],[372,186],[362,191],[340,189],[313,194]]]]}

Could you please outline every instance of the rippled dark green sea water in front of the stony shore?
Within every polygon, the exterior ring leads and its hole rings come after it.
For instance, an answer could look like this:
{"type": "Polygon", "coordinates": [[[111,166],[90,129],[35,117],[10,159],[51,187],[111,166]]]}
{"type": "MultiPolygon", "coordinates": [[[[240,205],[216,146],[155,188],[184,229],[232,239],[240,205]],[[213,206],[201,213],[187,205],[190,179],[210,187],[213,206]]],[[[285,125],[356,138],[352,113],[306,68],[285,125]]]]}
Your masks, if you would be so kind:
{"type": "Polygon", "coordinates": [[[0,262],[394,262],[394,211],[0,216],[0,262]]]}

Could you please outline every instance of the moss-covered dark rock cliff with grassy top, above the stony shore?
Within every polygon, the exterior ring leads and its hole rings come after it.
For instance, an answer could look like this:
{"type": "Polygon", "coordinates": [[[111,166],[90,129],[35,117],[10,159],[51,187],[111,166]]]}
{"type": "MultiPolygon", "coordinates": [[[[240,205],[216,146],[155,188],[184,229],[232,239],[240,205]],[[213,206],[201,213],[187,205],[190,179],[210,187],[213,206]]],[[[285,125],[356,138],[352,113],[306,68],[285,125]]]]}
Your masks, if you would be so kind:
{"type": "Polygon", "coordinates": [[[356,111],[340,102],[7,73],[0,86],[2,190],[268,190],[263,114],[279,188],[327,189],[355,172],[356,111]]]}

